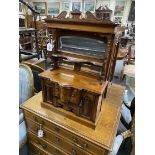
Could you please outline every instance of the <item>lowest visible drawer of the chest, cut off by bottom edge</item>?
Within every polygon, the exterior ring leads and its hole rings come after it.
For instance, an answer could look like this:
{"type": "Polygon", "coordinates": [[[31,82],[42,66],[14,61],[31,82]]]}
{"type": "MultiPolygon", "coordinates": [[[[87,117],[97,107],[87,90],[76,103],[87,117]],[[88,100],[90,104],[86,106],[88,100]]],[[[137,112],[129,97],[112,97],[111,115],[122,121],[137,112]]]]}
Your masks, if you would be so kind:
{"type": "Polygon", "coordinates": [[[31,152],[30,155],[54,155],[54,154],[50,154],[50,153],[44,151],[42,148],[40,148],[34,142],[30,142],[29,147],[30,147],[30,152],[31,152]]]}

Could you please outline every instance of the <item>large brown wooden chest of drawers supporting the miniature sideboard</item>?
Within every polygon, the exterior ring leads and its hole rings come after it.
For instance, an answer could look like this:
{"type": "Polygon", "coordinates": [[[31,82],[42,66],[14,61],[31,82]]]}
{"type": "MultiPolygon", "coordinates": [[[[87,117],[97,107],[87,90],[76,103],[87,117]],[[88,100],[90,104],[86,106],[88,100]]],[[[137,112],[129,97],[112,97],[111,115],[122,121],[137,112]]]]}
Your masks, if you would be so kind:
{"type": "Polygon", "coordinates": [[[48,155],[108,155],[112,151],[121,114],[124,88],[112,84],[102,103],[102,114],[95,129],[89,128],[66,115],[41,106],[41,92],[21,108],[28,130],[32,154],[48,155]],[[43,137],[37,136],[43,130],[43,137]]]}

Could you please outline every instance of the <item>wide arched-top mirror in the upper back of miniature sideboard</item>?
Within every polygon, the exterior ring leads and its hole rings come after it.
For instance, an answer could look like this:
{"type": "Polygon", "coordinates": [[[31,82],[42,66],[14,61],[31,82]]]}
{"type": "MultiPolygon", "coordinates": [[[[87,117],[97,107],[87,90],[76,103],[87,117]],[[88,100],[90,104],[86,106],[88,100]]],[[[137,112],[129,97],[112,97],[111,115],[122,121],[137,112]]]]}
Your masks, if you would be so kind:
{"type": "Polygon", "coordinates": [[[98,59],[106,57],[106,47],[107,44],[103,41],[79,36],[61,36],[58,44],[59,51],[92,56],[98,59]]]}

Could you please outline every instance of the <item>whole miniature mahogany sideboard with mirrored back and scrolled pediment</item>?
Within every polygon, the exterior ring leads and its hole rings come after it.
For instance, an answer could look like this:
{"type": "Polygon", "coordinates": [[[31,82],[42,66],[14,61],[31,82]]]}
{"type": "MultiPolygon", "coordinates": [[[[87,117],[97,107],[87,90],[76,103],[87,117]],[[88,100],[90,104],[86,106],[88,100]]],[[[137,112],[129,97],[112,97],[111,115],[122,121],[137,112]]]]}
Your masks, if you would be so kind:
{"type": "Polygon", "coordinates": [[[42,106],[95,128],[116,61],[116,25],[91,12],[66,16],[63,11],[45,19],[54,48],[52,69],[40,74],[42,106]]]}

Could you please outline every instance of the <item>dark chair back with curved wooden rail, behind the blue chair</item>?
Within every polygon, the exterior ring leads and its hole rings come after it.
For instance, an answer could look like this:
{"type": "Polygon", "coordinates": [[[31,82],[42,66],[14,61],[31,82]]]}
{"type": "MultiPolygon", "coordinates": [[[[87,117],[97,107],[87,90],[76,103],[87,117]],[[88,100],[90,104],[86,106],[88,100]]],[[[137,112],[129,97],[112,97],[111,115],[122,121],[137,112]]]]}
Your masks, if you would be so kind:
{"type": "Polygon", "coordinates": [[[42,73],[45,70],[43,68],[41,68],[41,67],[39,67],[37,65],[31,64],[29,62],[23,62],[23,63],[28,65],[31,68],[32,73],[33,73],[33,78],[34,78],[35,92],[36,93],[40,92],[41,91],[41,81],[40,81],[39,74],[42,73]]]}

